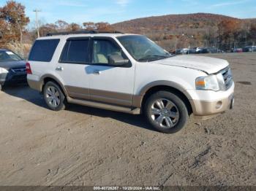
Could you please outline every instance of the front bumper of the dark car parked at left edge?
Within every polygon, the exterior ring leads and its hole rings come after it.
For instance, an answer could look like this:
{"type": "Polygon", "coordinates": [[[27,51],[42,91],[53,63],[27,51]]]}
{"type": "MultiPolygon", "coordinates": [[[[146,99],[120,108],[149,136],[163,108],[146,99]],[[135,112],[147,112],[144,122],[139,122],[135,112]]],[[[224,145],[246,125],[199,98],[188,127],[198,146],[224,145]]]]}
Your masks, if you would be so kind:
{"type": "Polygon", "coordinates": [[[1,85],[26,83],[26,73],[15,74],[9,72],[7,74],[0,74],[0,83],[1,85]]]}

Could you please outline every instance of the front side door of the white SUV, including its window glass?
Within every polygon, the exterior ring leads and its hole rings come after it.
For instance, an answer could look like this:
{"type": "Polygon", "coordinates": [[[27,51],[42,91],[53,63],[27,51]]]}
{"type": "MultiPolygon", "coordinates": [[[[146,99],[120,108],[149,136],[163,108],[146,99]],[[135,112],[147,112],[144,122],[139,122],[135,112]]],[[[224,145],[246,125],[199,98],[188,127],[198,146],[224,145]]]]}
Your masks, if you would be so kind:
{"type": "Polygon", "coordinates": [[[90,99],[119,106],[132,106],[135,66],[113,67],[108,65],[110,55],[121,55],[127,59],[121,47],[112,38],[91,39],[92,63],[87,66],[90,99]]]}

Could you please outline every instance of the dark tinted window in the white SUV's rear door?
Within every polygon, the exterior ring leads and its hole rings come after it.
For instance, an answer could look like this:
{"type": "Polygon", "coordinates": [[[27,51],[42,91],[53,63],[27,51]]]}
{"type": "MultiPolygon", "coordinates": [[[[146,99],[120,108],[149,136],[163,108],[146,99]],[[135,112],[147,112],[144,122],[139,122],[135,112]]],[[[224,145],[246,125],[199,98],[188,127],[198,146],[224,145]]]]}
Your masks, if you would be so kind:
{"type": "Polygon", "coordinates": [[[69,40],[61,53],[61,62],[89,63],[89,39],[69,40]]]}

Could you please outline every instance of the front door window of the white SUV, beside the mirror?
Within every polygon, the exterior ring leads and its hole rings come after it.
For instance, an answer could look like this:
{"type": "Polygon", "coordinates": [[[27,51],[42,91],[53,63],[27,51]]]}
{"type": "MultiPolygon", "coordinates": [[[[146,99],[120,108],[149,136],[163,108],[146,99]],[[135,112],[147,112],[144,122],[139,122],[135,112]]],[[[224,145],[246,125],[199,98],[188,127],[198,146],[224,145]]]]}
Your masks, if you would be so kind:
{"type": "Polygon", "coordinates": [[[93,63],[108,64],[110,55],[122,56],[121,49],[108,40],[94,40],[93,49],[93,63]]]}

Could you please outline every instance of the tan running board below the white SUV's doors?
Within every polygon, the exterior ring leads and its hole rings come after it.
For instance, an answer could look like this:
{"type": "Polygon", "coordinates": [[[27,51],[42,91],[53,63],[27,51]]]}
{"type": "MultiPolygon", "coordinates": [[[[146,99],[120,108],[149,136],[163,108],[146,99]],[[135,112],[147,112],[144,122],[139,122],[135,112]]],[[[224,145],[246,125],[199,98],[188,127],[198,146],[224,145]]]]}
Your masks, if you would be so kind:
{"type": "Polygon", "coordinates": [[[115,112],[123,112],[123,113],[127,113],[127,114],[140,114],[139,108],[130,109],[130,108],[123,107],[123,106],[113,106],[110,104],[102,104],[102,103],[95,102],[95,101],[79,100],[79,99],[74,99],[74,98],[70,98],[70,97],[67,97],[67,102],[69,102],[70,104],[91,106],[91,107],[95,107],[98,109],[107,109],[107,110],[111,110],[111,111],[115,111],[115,112]]]}

